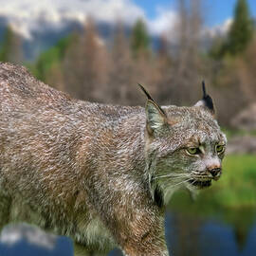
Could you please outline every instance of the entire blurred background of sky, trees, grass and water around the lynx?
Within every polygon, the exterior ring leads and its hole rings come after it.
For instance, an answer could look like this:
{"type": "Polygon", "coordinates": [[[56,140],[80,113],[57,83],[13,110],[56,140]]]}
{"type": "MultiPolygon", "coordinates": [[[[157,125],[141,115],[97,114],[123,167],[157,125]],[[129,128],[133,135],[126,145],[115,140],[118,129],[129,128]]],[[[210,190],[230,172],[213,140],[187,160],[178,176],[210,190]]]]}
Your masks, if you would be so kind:
{"type": "MultiPolygon", "coordinates": [[[[256,255],[256,1],[0,0],[0,61],[85,101],[192,105],[205,80],[229,139],[223,176],[166,216],[174,256],[256,255]]],[[[0,255],[72,255],[72,243],[8,227],[0,255]],[[43,242],[44,243],[43,243],[43,242]]],[[[121,255],[118,250],[112,256],[121,255]]]]}

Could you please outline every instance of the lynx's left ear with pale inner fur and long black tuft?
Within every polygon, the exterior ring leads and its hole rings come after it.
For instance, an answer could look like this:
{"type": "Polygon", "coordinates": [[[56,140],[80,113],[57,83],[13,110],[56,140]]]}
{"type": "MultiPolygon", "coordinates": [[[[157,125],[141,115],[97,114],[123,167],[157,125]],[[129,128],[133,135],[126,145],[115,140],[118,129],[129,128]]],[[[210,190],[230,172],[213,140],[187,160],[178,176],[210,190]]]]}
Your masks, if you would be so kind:
{"type": "Polygon", "coordinates": [[[148,98],[145,108],[147,116],[147,130],[150,134],[153,134],[155,130],[161,128],[165,123],[167,123],[167,116],[164,110],[155,103],[145,88],[141,84],[137,84],[148,98]]]}

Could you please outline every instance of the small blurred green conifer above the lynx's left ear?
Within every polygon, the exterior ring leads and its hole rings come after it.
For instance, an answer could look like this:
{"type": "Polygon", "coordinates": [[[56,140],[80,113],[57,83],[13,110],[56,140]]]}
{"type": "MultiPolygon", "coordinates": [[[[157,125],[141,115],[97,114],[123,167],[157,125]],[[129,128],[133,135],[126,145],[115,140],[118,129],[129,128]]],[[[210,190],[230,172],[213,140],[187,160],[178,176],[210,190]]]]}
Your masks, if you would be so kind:
{"type": "Polygon", "coordinates": [[[150,37],[145,23],[139,19],[132,31],[132,49],[134,53],[148,52],[150,49],[150,37]]]}

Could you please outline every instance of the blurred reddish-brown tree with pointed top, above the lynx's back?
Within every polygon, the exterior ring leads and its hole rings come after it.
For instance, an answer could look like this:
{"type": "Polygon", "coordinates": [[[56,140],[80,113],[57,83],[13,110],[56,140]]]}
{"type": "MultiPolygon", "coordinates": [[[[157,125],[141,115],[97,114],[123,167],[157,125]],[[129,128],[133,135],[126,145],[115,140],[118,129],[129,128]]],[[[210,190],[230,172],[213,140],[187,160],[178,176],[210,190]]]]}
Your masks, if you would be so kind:
{"type": "Polygon", "coordinates": [[[104,42],[90,18],[64,56],[65,89],[82,100],[105,101],[108,60],[104,42]]]}

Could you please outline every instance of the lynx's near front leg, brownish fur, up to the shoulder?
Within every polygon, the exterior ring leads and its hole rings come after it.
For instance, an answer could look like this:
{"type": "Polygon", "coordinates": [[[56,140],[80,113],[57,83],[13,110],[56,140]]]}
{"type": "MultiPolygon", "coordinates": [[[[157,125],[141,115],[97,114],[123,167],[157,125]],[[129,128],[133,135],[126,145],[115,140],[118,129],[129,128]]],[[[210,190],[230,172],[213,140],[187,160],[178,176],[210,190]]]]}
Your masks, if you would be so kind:
{"type": "Polygon", "coordinates": [[[148,184],[127,175],[107,178],[102,182],[97,176],[86,192],[94,212],[124,255],[168,256],[164,208],[152,198],[148,184]]]}

